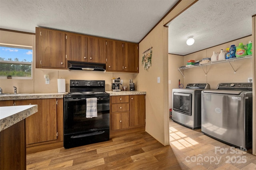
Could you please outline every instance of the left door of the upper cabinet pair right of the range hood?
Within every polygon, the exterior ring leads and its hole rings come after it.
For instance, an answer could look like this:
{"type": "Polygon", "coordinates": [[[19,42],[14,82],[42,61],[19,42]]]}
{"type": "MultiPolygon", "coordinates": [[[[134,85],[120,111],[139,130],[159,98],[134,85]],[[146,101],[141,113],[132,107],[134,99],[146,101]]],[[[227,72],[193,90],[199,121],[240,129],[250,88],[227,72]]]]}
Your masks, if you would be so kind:
{"type": "Polygon", "coordinates": [[[123,43],[107,41],[107,71],[123,71],[123,43]]]}

